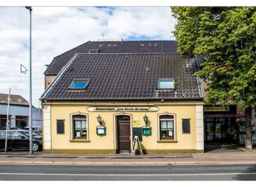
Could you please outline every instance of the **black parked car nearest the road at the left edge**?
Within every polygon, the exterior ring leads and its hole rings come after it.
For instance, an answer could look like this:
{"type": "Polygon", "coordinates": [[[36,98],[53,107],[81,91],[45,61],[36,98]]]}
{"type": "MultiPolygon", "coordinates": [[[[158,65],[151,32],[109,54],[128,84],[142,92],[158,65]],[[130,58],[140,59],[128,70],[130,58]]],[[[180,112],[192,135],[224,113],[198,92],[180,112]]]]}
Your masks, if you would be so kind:
{"type": "MultiPolygon", "coordinates": [[[[0,149],[5,148],[6,131],[0,131],[0,149]]],[[[40,151],[43,148],[42,137],[37,134],[32,136],[32,150],[40,151]]],[[[25,130],[9,130],[7,135],[8,149],[29,149],[29,132],[25,130]]]]}

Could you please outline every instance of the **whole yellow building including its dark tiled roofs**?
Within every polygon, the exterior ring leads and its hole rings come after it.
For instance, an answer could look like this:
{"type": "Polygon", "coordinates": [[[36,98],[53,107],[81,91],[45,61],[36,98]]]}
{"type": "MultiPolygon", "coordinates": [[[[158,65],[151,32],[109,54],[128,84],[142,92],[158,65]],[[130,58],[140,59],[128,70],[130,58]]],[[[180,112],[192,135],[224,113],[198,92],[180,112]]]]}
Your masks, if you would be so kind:
{"type": "Polygon", "coordinates": [[[55,57],[44,73],[43,151],[130,152],[137,135],[144,153],[204,152],[196,61],[176,49],[174,41],[102,41],[55,57]]]}

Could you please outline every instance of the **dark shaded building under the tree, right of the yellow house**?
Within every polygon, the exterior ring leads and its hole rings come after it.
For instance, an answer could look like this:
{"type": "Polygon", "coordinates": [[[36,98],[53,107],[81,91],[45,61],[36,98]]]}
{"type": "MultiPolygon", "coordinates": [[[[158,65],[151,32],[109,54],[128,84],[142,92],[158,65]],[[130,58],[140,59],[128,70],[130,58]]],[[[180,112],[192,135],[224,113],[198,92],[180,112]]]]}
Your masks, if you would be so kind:
{"type": "MultiPolygon", "coordinates": [[[[207,83],[201,80],[204,90],[204,100],[207,100],[205,87],[207,83]]],[[[255,112],[252,110],[252,134],[256,135],[255,112]]],[[[230,101],[229,106],[218,102],[215,106],[204,106],[205,143],[239,143],[241,133],[244,133],[245,109],[241,104],[230,101]],[[241,129],[243,132],[241,132],[241,129]]],[[[240,141],[241,143],[241,141],[240,141]]],[[[256,143],[255,143],[256,144],[256,143]]]]}

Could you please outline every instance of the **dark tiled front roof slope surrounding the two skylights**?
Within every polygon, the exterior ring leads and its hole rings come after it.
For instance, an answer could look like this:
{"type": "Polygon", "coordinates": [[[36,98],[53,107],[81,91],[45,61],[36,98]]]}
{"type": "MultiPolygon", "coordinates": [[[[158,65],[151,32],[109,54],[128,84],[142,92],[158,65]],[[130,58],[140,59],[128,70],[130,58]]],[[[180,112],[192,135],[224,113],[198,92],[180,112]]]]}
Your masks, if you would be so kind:
{"type": "Polygon", "coordinates": [[[194,60],[179,53],[77,54],[44,92],[45,100],[201,98],[194,60]],[[158,78],[174,78],[175,90],[157,90],[158,78]],[[75,79],[90,79],[84,90],[69,90],[75,79]]]}

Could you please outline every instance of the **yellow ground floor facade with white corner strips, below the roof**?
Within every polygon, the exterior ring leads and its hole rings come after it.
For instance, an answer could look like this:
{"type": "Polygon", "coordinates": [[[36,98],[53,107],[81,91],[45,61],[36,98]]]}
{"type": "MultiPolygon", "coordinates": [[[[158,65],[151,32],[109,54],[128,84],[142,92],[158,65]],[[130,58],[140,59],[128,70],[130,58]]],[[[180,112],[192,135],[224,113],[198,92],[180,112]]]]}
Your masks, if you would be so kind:
{"type": "Polygon", "coordinates": [[[104,104],[44,103],[43,151],[130,153],[137,135],[145,154],[204,152],[202,101],[104,104]]]}

